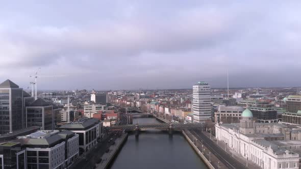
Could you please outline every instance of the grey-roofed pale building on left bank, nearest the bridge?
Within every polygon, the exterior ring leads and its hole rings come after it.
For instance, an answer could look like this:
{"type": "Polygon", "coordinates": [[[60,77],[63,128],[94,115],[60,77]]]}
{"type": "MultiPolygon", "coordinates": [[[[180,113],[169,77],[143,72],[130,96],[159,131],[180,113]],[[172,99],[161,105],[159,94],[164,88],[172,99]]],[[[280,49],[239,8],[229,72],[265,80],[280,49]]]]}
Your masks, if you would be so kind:
{"type": "Polygon", "coordinates": [[[60,127],[79,134],[79,147],[82,152],[88,151],[97,144],[97,139],[102,136],[103,123],[93,118],[83,118],[79,121],[65,124],[60,127]]]}

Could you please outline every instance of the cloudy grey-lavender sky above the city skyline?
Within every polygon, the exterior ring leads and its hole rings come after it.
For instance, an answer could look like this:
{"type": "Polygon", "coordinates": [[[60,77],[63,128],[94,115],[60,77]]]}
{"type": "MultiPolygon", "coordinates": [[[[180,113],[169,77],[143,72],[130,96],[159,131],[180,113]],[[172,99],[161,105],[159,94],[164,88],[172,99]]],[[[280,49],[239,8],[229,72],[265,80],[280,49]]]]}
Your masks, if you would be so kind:
{"type": "Polygon", "coordinates": [[[0,81],[25,89],[38,70],[40,90],[301,86],[301,1],[0,6],[0,81]]]}

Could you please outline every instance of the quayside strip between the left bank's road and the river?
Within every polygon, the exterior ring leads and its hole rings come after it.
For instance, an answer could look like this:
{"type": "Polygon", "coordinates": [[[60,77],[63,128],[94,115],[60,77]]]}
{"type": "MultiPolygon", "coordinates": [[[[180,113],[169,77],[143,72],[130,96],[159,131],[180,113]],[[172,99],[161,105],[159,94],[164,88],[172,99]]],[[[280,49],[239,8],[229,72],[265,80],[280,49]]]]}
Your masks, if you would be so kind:
{"type": "Polygon", "coordinates": [[[110,165],[110,163],[114,160],[115,156],[118,154],[118,151],[122,148],[124,142],[126,142],[128,138],[128,133],[124,133],[120,138],[115,140],[115,144],[109,148],[109,152],[105,153],[102,156],[102,162],[100,164],[96,164],[97,169],[106,169],[110,165]]]}

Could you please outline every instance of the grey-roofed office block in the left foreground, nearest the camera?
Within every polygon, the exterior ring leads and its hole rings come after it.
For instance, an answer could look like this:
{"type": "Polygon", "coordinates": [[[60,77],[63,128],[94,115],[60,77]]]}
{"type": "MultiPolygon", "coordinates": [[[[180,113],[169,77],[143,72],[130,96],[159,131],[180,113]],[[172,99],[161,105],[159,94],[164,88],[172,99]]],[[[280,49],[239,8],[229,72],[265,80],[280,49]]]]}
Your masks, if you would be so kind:
{"type": "Polygon", "coordinates": [[[18,138],[27,168],[65,168],[79,158],[79,135],[71,131],[40,130],[18,138]]]}

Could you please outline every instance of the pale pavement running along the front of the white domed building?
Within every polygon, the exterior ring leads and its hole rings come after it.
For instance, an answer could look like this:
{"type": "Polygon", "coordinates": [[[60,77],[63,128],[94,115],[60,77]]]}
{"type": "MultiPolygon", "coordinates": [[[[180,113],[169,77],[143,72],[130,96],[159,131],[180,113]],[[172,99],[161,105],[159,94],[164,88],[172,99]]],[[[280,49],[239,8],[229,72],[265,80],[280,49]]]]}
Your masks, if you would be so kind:
{"type": "MultiPolygon", "coordinates": [[[[210,133],[209,132],[203,132],[204,135],[206,135],[209,139],[210,139],[210,133]]],[[[217,140],[215,138],[215,136],[211,136],[212,140],[217,140]]],[[[247,168],[250,169],[257,169],[260,168],[256,163],[254,163],[253,161],[250,160],[246,160],[245,158],[243,158],[238,152],[234,151],[233,149],[231,149],[228,145],[225,146],[223,141],[217,140],[217,142],[214,142],[215,144],[217,144],[221,149],[225,150],[225,152],[228,153],[228,155],[232,156],[233,158],[237,159],[238,161],[240,161],[243,165],[245,165],[246,167],[246,163],[248,163],[247,168]],[[226,148],[226,149],[225,149],[226,148]]]]}

